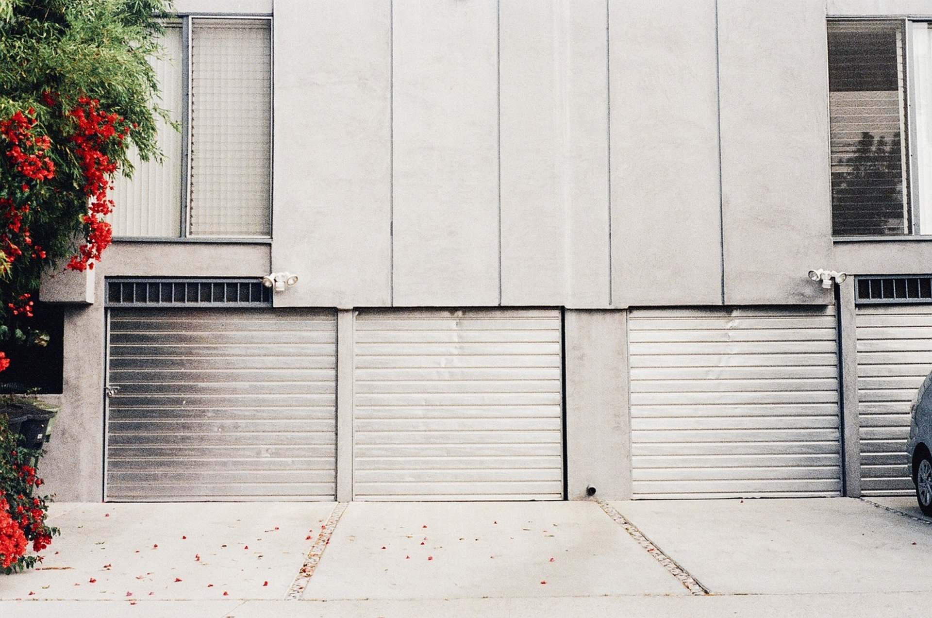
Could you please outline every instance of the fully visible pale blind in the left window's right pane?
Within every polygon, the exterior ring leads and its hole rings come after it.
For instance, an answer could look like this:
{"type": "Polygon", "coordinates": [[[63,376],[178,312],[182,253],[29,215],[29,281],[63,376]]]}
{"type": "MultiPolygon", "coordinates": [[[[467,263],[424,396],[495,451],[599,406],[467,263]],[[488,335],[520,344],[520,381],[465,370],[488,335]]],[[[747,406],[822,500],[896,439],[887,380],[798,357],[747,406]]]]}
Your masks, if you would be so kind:
{"type": "Polygon", "coordinates": [[[192,236],[268,236],[271,45],[265,20],[193,20],[192,236]]]}

